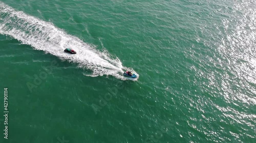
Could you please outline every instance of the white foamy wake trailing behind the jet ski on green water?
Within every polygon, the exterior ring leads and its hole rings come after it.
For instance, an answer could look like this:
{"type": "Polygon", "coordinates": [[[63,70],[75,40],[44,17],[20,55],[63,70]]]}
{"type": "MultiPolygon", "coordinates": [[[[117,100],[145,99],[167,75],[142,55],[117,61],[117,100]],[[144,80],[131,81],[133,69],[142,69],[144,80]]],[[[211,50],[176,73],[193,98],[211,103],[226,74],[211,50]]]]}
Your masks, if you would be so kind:
{"type": "Polygon", "coordinates": [[[22,11],[0,2],[0,34],[11,36],[23,44],[31,45],[37,50],[58,56],[62,60],[78,63],[79,67],[90,69],[89,76],[113,75],[124,80],[122,63],[118,58],[110,58],[106,51],[98,51],[77,37],[68,35],[51,22],[42,21],[22,11]],[[77,54],[67,54],[63,50],[73,48],[77,54]]]}

